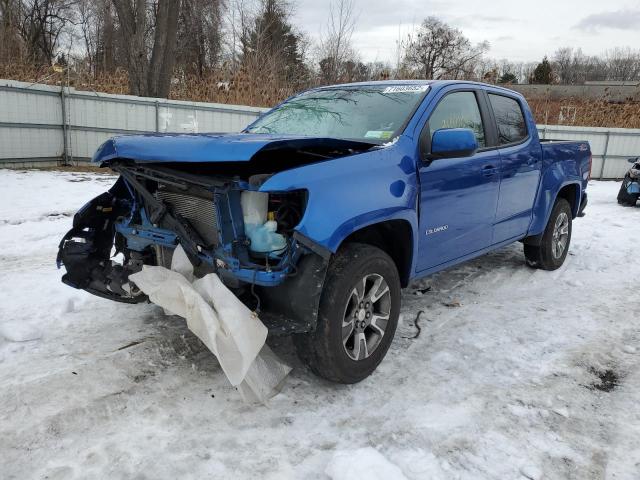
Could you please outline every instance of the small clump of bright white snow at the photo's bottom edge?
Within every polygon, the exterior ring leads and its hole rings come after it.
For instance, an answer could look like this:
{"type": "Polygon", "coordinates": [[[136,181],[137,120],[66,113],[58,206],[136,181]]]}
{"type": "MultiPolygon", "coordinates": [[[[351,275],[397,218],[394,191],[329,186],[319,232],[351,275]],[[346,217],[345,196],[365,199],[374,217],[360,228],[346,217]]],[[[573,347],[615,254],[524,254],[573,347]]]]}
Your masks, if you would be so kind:
{"type": "Polygon", "coordinates": [[[397,465],[372,447],[336,452],[325,473],[331,480],[407,480],[397,465]]]}

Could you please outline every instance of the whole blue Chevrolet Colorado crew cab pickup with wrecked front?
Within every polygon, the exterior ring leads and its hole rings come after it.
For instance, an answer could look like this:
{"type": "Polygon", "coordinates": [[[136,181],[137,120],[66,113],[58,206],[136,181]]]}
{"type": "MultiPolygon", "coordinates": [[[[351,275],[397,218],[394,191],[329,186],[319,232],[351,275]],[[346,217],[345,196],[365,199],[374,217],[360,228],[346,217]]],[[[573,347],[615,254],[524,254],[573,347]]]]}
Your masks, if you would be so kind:
{"type": "Polygon", "coordinates": [[[370,375],[401,289],[513,242],[554,270],[583,215],[587,142],[541,141],[525,99],[493,85],[388,81],[296,95],[238,134],[115,137],[118,172],[62,239],[63,281],[120,302],[182,246],[318,375],[370,375]]]}

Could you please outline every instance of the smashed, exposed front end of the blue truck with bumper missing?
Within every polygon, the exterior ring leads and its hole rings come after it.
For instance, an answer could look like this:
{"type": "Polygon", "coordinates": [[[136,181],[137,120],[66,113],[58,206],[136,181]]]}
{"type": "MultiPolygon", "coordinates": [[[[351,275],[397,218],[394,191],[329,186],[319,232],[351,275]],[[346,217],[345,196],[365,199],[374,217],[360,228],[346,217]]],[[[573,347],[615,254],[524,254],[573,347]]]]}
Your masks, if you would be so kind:
{"type": "Polygon", "coordinates": [[[145,264],[170,267],[180,244],[196,275],[218,274],[271,332],[315,328],[330,252],[295,230],[306,191],[260,192],[268,175],[124,160],[109,166],[120,178],[75,215],[60,242],[65,284],[119,302],[146,301],[129,275],[145,264]]]}

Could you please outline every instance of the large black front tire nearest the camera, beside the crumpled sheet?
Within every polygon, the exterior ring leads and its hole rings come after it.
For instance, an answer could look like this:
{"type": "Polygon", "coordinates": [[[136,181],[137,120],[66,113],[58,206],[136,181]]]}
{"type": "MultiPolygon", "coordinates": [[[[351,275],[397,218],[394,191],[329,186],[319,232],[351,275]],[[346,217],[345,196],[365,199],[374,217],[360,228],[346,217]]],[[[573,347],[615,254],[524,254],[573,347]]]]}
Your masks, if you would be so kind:
{"type": "MultiPolygon", "coordinates": [[[[316,329],[310,333],[294,336],[298,356],[316,375],[327,380],[347,384],[364,380],[380,364],[391,345],[398,325],[400,295],[400,277],[389,255],[370,245],[360,243],[345,245],[329,265],[320,299],[316,329]],[[378,291],[374,292],[374,296],[368,297],[375,301],[365,303],[364,300],[359,300],[358,293],[354,294],[354,289],[357,287],[357,292],[361,289],[363,293],[366,293],[367,285],[370,285],[373,290],[379,277],[386,282],[388,294],[384,293],[382,298],[375,300],[377,293],[385,291],[385,285],[381,282],[378,284],[379,287],[376,287],[378,291]],[[367,280],[363,282],[364,279],[367,280]],[[364,305],[367,306],[367,309],[364,308],[364,305]],[[383,311],[375,311],[376,309],[383,311]],[[361,310],[365,310],[365,314],[361,314],[361,310]],[[367,325],[362,331],[365,338],[361,343],[359,341],[361,337],[358,337],[360,333],[356,331],[356,328],[362,329],[362,321],[370,321],[364,320],[364,315],[383,316],[387,310],[389,318],[383,335],[377,333],[378,330],[373,326],[367,325]],[[351,330],[354,335],[353,340],[350,337],[346,343],[343,341],[343,333],[347,332],[348,334],[349,326],[344,325],[345,318],[352,324],[359,325],[351,330]],[[359,339],[357,352],[356,338],[359,339]],[[370,340],[371,345],[374,345],[373,341],[377,340],[371,352],[364,348],[365,345],[370,344],[370,340]],[[357,355],[359,357],[365,353],[369,356],[358,360],[354,360],[350,356],[357,355]]],[[[369,319],[369,316],[366,319],[369,319]]]]}

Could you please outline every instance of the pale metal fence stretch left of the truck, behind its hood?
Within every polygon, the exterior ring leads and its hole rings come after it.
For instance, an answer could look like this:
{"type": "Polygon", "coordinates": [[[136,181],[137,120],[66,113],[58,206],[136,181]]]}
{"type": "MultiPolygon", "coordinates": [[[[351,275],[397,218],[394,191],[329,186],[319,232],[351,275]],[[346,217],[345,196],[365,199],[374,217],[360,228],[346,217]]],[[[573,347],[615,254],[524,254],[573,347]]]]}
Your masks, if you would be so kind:
{"type": "Polygon", "coordinates": [[[114,135],[238,132],[265,110],[0,80],[0,166],[84,163],[114,135]]]}

